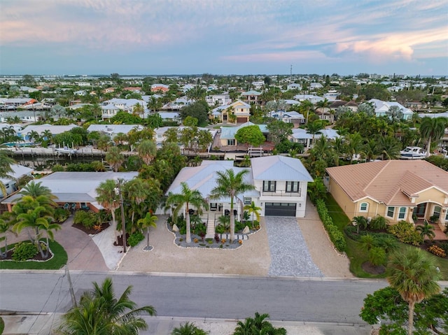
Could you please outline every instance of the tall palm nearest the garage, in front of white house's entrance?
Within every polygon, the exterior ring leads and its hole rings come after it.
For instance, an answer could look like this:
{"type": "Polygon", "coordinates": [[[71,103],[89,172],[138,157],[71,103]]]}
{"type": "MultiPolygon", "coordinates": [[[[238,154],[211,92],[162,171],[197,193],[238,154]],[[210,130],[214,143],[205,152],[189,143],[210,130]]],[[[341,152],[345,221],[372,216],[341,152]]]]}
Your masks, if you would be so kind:
{"type": "Polygon", "coordinates": [[[230,242],[235,240],[235,213],[233,205],[235,197],[244,192],[255,190],[255,186],[244,182],[244,176],[249,170],[241,170],[237,174],[233,169],[227,169],[224,172],[217,171],[216,187],[211,190],[210,199],[221,199],[230,197],[230,242]]]}

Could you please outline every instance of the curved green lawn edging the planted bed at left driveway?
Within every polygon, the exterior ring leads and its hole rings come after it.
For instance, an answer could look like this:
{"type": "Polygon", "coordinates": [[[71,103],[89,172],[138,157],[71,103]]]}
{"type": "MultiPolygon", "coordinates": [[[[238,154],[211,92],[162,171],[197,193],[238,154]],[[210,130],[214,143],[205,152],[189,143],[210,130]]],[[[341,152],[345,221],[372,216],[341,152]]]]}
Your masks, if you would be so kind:
{"type": "MultiPolygon", "coordinates": [[[[15,244],[8,245],[8,248],[12,248],[15,244]]],[[[3,250],[3,248],[2,248],[3,250]]],[[[50,250],[53,253],[52,259],[45,262],[15,262],[12,260],[0,261],[0,269],[10,269],[10,270],[59,270],[67,263],[67,253],[62,245],[56,241],[50,241],[50,250]]]]}

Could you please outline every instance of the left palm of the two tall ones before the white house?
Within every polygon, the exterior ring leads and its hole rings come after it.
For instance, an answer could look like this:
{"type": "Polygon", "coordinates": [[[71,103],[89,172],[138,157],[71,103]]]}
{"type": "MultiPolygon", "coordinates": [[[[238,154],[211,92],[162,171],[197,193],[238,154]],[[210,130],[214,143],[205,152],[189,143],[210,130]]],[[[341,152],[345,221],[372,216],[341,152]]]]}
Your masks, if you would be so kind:
{"type": "Polygon", "coordinates": [[[181,193],[169,193],[166,201],[167,206],[174,206],[173,220],[177,220],[179,211],[185,206],[185,218],[187,224],[186,243],[191,243],[191,227],[190,227],[190,205],[195,206],[198,213],[202,212],[202,208],[209,209],[209,204],[202,197],[198,190],[191,190],[187,183],[181,183],[181,193]]]}

